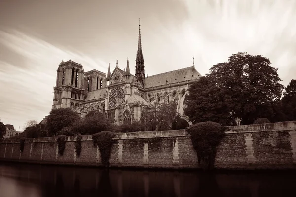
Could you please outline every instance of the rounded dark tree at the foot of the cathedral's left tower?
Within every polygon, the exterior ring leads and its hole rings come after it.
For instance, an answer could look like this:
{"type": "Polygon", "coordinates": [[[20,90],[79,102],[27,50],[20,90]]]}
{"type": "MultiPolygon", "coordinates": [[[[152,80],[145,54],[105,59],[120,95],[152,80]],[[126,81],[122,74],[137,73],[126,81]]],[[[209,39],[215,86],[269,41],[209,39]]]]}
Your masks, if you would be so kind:
{"type": "Polygon", "coordinates": [[[70,108],[53,109],[47,117],[48,136],[56,136],[63,128],[80,122],[79,115],[70,108]]]}

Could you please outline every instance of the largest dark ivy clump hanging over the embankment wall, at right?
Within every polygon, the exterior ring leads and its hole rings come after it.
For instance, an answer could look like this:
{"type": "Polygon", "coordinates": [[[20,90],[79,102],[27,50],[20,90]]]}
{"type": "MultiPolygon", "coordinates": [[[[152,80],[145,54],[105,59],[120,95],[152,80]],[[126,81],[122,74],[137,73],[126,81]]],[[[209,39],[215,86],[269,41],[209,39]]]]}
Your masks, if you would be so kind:
{"type": "Polygon", "coordinates": [[[204,169],[212,169],[217,146],[225,136],[225,129],[219,123],[208,121],[194,124],[187,131],[191,135],[192,145],[197,152],[199,164],[204,169]]]}

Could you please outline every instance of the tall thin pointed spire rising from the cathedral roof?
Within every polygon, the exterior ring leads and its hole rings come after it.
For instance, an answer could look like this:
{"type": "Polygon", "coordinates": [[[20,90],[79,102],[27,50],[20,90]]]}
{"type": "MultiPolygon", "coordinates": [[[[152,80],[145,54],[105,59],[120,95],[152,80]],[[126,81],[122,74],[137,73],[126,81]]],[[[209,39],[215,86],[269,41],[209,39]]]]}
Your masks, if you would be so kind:
{"type": "Polygon", "coordinates": [[[142,53],[142,44],[141,44],[141,29],[139,23],[139,38],[138,38],[138,52],[136,57],[136,76],[140,83],[144,85],[145,80],[145,70],[144,70],[144,58],[142,53]]]}

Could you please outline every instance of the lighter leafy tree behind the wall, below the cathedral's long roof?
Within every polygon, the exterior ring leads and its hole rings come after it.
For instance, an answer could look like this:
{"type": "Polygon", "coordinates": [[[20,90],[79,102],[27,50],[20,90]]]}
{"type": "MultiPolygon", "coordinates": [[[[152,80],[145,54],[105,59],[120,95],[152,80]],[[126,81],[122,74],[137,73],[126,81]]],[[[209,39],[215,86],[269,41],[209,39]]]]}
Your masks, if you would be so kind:
{"type": "Polygon", "coordinates": [[[141,122],[145,131],[171,130],[172,123],[177,116],[177,103],[158,103],[143,110],[141,122]]]}

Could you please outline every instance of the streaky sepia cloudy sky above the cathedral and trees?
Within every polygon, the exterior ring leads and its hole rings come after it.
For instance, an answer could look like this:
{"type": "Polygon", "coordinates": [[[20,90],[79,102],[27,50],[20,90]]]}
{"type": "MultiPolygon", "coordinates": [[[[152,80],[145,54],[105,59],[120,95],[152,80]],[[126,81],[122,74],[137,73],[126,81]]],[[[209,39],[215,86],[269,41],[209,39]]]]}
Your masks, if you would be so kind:
{"type": "Polygon", "coordinates": [[[193,65],[201,74],[237,52],[262,55],[295,79],[296,0],[1,0],[0,119],[22,131],[52,108],[59,63],[135,72],[141,18],[145,74],[193,65]]]}

